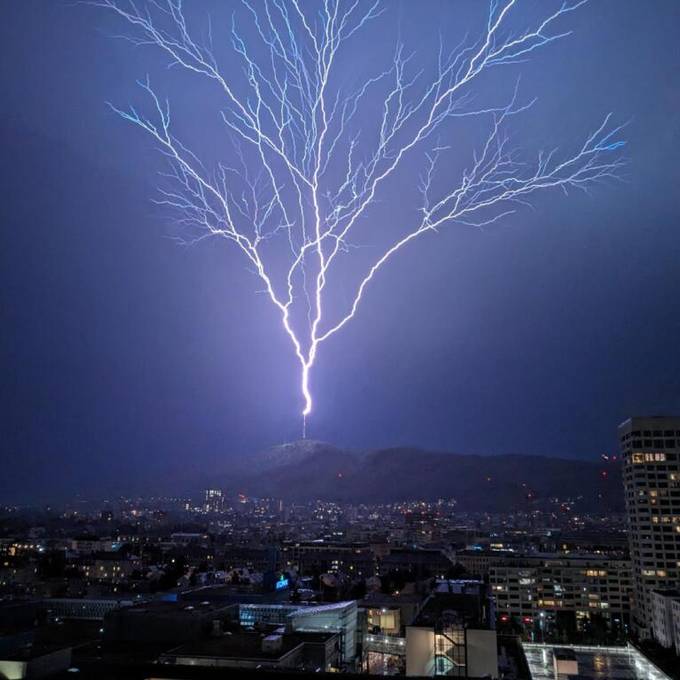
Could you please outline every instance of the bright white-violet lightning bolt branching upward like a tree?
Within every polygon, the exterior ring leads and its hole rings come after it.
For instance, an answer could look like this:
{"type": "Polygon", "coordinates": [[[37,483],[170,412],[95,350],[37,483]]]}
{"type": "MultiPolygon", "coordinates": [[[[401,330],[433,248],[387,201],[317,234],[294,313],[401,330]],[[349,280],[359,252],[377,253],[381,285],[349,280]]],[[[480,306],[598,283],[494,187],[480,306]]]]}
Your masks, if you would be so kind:
{"type": "Polygon", "coordinates": [[[303,436],[320,346],[356,315],[368,285],[397,251],[448,224],[483,227],[502,220],[536,191],[587,190],[619,176],[624,160],[615,152],[624,142],[611,115],[573,153],[553,150],[527,161],[510,147],[506,124],[532,102],[520,103],[517,87],[503,105],[478,106],[473,96],[486,71],[519,64],[568,36],[559,29],[562,19],[586,1],[565,1],[518,31],[516,17],[512,21],[519,0],[492,0],[480,38],[450,53],[440,46],[433,71],[414,69],[413,55],[398,43],[393,65],[351,92],[335,85],[338,55],[380,17],[379,2],[243,0],[252,23],[250,43],[234,20],[230,41],[242,69],[225,70],[215,55],[212,26],[198,42],[182,0],[147,0],[144,6],[134,0],[93,1],[131,25],[126,39],[159,48],[172,66],[208,79],[223,95],[220,115],[236,165],[217,162],[213,169],[175,136],[169,104],[148,78],[139,84],[153,104],[151,114],[112,108],[151,135],[168,159],[170,181],[158,203],[176,211],[186,227],[184,241],[233,242],[262,282],[300,365],[303,436]],[[369,131],[357,124],[358,111],[375,101],[375,92],[380,107],[371,109],[369,131]],[[451,125],[473,117],[488,122],[485,141],[457,181],[448,186],[435,181],[452,143],[451,125]],[[383,185],[405,158],[417,154],[423,163],[417,221],[404,225],[408,231],[375,257],[348,308],[331,318],[324,303],[334,263],[351,252],[350,237],[370,223],[383,185]],[[273,244],[279,257],[286,253],[283,277],[269,260],[273,244]],[[302,314],[294,313],[300,308],[302,314]]]}

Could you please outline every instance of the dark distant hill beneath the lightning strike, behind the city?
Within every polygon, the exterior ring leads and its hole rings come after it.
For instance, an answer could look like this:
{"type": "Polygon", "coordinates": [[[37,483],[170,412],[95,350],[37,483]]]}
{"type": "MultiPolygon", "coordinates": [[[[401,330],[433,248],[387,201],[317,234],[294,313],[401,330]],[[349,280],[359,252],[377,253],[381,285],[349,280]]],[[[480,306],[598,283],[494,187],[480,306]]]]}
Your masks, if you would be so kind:
{"type": "Polygon", "coordinates": [[[621,510],[616,463],[544,456],[477,456],[418,448],[341,449],[303,440],[242,459],[214,475],[227,490],[289,501],[354,503],[455,498],[461,510],[504,512],[575,499],[581,510],[621,510]]]}

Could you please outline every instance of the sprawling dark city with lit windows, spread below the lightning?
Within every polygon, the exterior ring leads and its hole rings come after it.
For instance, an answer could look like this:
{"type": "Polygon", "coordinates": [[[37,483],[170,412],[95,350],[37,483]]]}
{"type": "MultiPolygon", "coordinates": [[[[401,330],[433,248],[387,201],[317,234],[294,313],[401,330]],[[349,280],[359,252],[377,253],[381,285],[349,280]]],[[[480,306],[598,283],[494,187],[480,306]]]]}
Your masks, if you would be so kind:
{"type": "Polygon", "coordinates": [[[421,461],[447,482],[438,498],[388,500],[397,451],[352,475],[338,450],[304,442],[258,461],[258,477],[278,475],[272,493],[211,480],[168,497],[0,504],[0,671],[675,680],[680,417],[634,417],[618,435],[619,454],[556,469],[545,488],[537,459],[516,457],[527,482],[500,503],[511,475],[498,456],[477,478],[459,461],[467,497],[445,456],[421,461]],[[310,478],[318,493],[329,464],[346,473],[330,475],[336,492],[357,498],[290,495],[310,478]]]}

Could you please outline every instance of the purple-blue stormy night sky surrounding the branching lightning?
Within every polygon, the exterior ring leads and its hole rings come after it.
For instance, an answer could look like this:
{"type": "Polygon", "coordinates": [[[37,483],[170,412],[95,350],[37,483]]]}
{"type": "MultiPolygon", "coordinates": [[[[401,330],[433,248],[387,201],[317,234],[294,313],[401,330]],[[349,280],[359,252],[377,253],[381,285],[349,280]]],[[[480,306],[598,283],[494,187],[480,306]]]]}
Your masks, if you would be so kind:
{"type": "MultiPolygon", "coordinates": [[[[438,30],[475,34],[481,4],[388,3],[347,77],[399,33],[419,54],[438,30]]],[[[190,5],[197,25],[225,10],[190,5]]],[[[228,244],[168,238],[153,144],[106,105],[143,103],[149,73],[212,148],[219,93],[113,38],[127,28],[104,11],[14,0],[0,17],[0,501],[151,494],[297,439],[298,367],[260,284],[228,244]]],[[[629,415],[680,412],[680,4],[594,0],[564,26],[505,72],[539,98],[513,137],[573,148],[614,112],[625,181],[400,253],[321,349],[312,438],[593,458],[629,415]]],[[[379,233],[405,196],[383,197],[379,233]]]]}

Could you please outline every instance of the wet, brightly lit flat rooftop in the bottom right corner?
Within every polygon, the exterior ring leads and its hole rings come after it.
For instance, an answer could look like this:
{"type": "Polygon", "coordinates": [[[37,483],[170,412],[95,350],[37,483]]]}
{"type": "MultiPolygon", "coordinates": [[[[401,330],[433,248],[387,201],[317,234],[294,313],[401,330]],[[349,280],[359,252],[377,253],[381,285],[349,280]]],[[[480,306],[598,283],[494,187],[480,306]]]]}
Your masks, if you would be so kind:
{"type": "MultiPolygon", "coordinates": [[[[587,680],[671,680],[634,647],[522,644],[532,680],[555,680],[555,652],[573,651],[578,678],[587,680]]],[[[566,676],[560,676],[560,678],[566,676]]]]}

